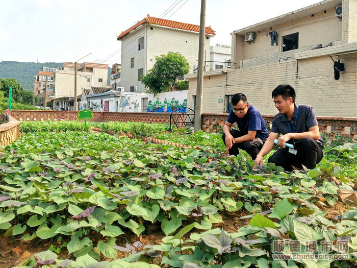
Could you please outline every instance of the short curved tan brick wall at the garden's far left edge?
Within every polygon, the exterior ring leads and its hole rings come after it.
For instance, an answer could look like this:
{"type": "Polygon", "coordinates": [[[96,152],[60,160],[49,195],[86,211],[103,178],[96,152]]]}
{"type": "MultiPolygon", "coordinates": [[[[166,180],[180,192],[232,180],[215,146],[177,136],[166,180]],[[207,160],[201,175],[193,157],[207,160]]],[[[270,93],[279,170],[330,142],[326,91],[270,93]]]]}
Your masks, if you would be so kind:
{"type": "MultiPolygon", "coordinates": [[[[0,120],[5,121],[6,115],[0,114],[0,120]]],[[[20,121],[9,115],[9,122],[0,125],[0,145],[7,146],[20,136],[20,121]]]]}

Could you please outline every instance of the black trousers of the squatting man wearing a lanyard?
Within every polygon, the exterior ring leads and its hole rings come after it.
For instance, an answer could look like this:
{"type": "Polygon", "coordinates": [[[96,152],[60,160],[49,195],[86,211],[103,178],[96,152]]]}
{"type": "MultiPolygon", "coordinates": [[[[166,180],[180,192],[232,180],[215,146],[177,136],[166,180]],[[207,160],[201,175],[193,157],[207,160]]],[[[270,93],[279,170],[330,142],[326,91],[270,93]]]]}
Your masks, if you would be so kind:
{"type": "Polygon", "coordinates": [[[269,157],[268,162],[282,166],[287,171],[292,171],[293,166],[302,168],[304,165],[309,169],[315,168],[322,159],[323,151],[316,140],[312,138],[295,140],[295,147],[297,148],[296,155],[289,153],[289,148],[282,148],[269,157]]]}

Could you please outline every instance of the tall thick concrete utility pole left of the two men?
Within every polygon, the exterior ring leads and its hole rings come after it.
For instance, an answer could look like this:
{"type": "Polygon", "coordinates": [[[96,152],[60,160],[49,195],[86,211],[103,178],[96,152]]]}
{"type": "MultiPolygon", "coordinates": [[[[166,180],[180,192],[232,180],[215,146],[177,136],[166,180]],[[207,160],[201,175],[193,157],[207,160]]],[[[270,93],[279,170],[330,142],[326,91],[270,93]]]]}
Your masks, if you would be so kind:
{"type": "Polygon", "coordinates": [[[203,66],[205,57],[205,30],[206,30],[206,0],[201,0],[201,17],[199,22],[197,89],[195,109],[195,132],[202,128],[202,98],[203,98],[203,66]]]}

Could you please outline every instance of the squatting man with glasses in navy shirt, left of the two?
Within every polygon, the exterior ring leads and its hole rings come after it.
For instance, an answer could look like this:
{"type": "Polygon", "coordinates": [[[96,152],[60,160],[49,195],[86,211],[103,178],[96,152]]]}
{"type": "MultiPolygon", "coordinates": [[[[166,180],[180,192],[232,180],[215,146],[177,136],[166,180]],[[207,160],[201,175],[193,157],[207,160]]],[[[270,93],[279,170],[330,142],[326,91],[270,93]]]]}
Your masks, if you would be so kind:
{"type": "Polygon", "coordinates": [[[256,159],[269,136],[267,125],[257,108],[247,102],[244,94],[234,94],[232,105],[233,109],[223,126],[222,139],[226,146],[226,154],[238,155],[239,149],[242,149],[252,159],[256,159]],[[235,122],[239,131],[231,129],[235,122]]]}

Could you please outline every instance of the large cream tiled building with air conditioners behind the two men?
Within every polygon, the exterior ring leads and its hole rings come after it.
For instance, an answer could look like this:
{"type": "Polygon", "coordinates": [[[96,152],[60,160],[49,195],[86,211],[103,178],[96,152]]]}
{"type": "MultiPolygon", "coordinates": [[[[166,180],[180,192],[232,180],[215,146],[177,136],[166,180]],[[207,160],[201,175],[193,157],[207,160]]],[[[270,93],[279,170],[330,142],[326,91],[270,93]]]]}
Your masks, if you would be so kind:
{"type": "MultiPolygon", "coordinates": [[[[357,117],[356,14],[357,0],[325,0],[232,32],[232,68],[204,73],[202,112],[226,113],[242,92],[262,114],[276,114],[271,92],[287,83],[317,116],[357,117]]],[[[194,108],[197,74],[185,78],[194,108]]]]}

